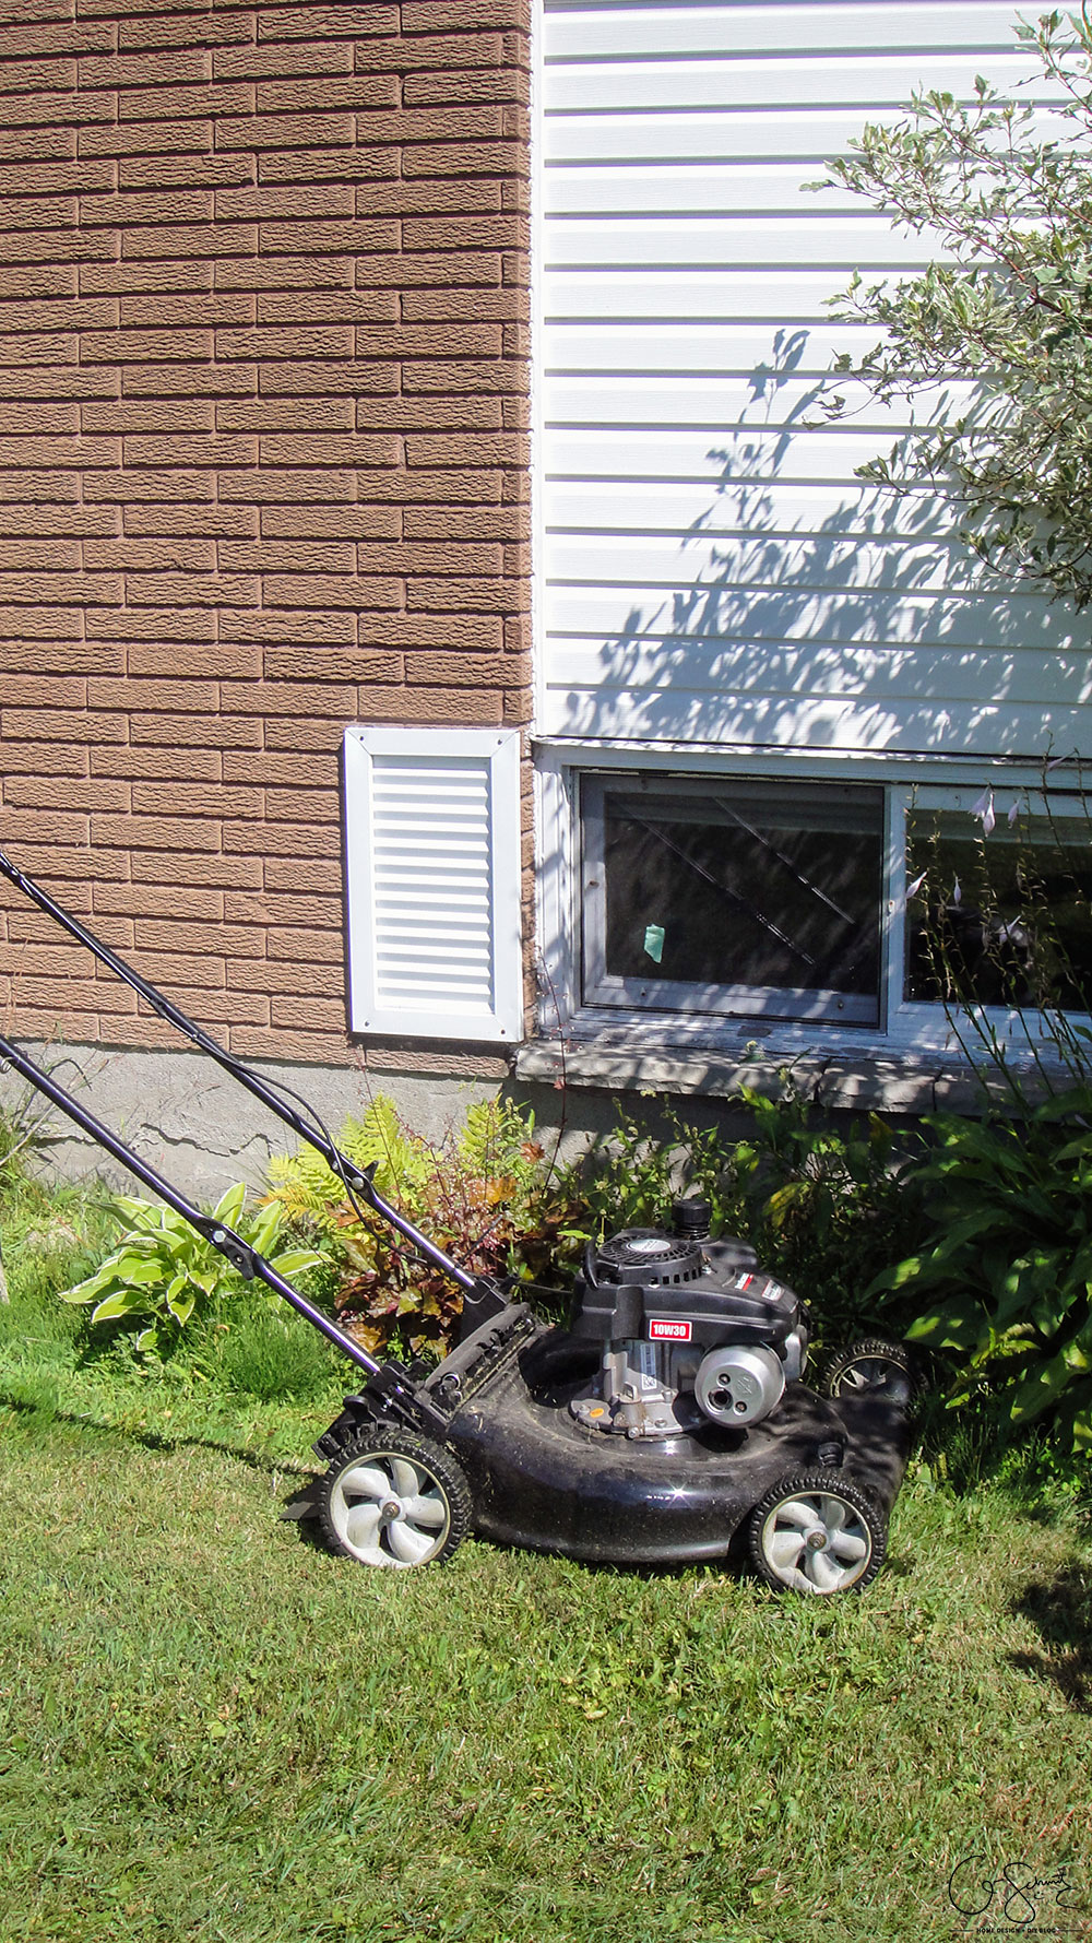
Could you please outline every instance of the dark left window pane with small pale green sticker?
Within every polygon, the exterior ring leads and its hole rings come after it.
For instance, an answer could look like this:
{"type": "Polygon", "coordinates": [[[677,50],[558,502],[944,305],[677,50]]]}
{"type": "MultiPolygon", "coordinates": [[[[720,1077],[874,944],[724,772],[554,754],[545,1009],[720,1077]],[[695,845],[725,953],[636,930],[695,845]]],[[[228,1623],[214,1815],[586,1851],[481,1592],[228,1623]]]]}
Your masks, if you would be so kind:
{"type": "MultiPolygon", "coordinates": [[[[882,795],[604,787],[606,973],[876,999],[882,795]]],[[[651,993],[655,999],[655,993],[651,993]]]]}

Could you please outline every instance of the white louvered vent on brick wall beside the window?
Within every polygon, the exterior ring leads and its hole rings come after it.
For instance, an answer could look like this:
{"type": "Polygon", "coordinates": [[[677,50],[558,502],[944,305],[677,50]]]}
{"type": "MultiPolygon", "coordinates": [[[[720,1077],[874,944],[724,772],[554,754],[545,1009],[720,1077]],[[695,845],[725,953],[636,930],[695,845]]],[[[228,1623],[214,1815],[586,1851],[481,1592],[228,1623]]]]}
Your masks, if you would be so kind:
{"type": "Polygon", "coordinates": [[[354,1032],[519,1040],[519,734],[346,731],[354,1032]]]}

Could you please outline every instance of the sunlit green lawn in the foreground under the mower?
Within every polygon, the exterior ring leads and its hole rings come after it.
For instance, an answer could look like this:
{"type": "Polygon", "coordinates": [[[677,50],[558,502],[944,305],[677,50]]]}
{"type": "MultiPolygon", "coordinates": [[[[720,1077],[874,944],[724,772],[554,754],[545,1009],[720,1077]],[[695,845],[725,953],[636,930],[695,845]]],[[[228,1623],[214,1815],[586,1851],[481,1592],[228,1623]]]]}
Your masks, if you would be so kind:
{"type": "Polygon", "coordinates": [[[478,1543],[369,1574],[278,1521],[328,1370],[290,1405],[152,1381],[12,1294],[2,1943],[1028,1926],[956,1912],[975,1852],[1063,1867],[1038,1931],[1092,1933],[1092,1535],[1049,1471],[915,1463],[863,1599],[478,1543]]]}

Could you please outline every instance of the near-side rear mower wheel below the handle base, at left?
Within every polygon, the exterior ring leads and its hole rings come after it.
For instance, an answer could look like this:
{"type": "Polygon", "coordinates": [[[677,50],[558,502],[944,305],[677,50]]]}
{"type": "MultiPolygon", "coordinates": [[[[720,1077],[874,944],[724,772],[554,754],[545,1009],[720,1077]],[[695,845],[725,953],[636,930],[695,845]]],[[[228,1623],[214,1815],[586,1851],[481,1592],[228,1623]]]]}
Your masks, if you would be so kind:
{"type": "Polygon", "coordinates": [[[472,1500],[443,1446],[377,1424],[334,1459],[317,1512],[330,1551],[406,1570],[451,1558],[470,1531],[472,1500]]]}

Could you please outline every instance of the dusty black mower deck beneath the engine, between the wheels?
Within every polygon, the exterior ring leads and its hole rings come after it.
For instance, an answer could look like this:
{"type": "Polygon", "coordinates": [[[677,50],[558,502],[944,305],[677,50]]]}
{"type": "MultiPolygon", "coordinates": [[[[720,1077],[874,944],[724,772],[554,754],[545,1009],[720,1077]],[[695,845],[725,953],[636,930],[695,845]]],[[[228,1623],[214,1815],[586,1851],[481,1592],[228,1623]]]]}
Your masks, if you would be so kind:
{"type": "MultiPolygon", "coordinates": [[[[593,1564],[678,1566],[717,1562],[740,1549],[756,1504],[789,1473],[824,1473],[869,1494],[884,1521],[902,1486],[911,1416],[902,1385],[865,1387],[837,1401],[804,1383],[752,1430],[631,1444],[604,1438],[571,1415],[587,1387],[587,1346],[513,1304],[478,1329],[426,1380],[445,1416],[443,1442],[474,1498],[474,1531],[497,1545],[558,1552],[593,1564]],[[583,1354],[579,1352],[583,1350],[583,1354]]],[[[346,1411],[319,1438],[336,1459],[367,1420],[346,1411]]],[[[291,1516],[315,1516],[303,1494],[291,1516]]]]}

